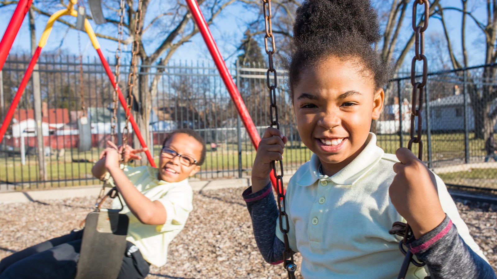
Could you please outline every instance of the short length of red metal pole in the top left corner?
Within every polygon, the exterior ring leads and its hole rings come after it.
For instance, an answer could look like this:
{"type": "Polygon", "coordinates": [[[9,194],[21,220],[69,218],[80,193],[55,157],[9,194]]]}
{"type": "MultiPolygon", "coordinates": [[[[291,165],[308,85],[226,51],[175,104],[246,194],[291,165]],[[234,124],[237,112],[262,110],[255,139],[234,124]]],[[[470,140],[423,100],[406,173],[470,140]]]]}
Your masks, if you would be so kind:
{"type": "Polygon", "coordinates": [[[10,18],[7,29],[5,29],[5,33],[3,33],[3,37],[0,41],[0,70],[3,68],[3,64],[7,59],[8,52],[12,47],[15,36],[17,36],[19,28],[21,27],[22,20],[24,20],[32,2],[33,0],[19,0],[19,2],[17,2],[17,7],[12,14],[12,18],[10,18]]]}

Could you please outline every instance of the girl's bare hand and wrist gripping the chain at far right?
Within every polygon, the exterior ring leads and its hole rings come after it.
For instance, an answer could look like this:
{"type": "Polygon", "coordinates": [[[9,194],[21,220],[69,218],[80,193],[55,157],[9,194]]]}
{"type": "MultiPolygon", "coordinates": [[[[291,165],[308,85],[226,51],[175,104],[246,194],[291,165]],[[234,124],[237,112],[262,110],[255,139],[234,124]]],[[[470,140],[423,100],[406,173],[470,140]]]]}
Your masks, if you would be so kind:
{"type": "Polygon", "coordinates": [[[396,175],[390,185],[390,199],[417,239],[438,226],[445,213],[433,173],[409,149],[401,147],[395,154],[401,162],[394,164],[396,175]]]}

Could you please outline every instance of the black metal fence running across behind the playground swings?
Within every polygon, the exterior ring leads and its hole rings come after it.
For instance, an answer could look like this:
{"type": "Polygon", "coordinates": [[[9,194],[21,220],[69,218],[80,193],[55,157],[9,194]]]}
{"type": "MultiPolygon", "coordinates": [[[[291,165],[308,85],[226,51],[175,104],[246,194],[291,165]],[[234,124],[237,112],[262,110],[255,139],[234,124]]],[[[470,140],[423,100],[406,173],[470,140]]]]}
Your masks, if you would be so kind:
{"type": "MultiPolygon", "coordinates": [[[[3,120],[27,67],[29,58],[10,56],[0,79],[0,118],[3,120]]],[[[127,65],[123,62],[123,65],[127,65]]],[[[33,85],[30,82],[18,105],[7,134],[0,143],[0,191],[93,185],[91,166],[98,159],[105,141],[110,139],[112,94],[100,63],[83,64],[83,80],[76,57],[43,56],[40,59],[43,153],[37,147],[33,112],[33,85]],[[83,82],[83,98],[80,82],[83,82]],[[80,135],[77,121],[82,99],[89,116],[91,133],[80,135]],[[85,137],[80,139],[80,137],[85,137]],[[89,150],[81,142],[89,140],[89,150]],[[80,151],[79,151],[80,150],[80,151]],[[39,157],[45,161],[46,179],[41,181],[39,157]]],[[[121,80],[128,67],[121,66],[121,80]]],[[[494,132],[496,92],[495,66],[431,74],[423,114],[425,161],[447,183],[480,187],[495,185],[493,156],[488,156],[485,141],[494,132]],[[474,114],[473,111],[477,113],[474,114]],[[482,113],[483,112],[483,117],[482,113]],[[492,130],[492,131],[491,131],[492,130]]],[[[230,69],[252,120],[262,135],[269,124],[269,97],[266,70],[255,65],[232,65],[230,69]]],[[[284,167],[294,170],[309,160],[311,152],[300,142],[293,107],[286,94],[285,72],[279,78],[281,130],[289,138],[284,167]]],[[[205,62],[172,62],[166,67],[143,70],[152,99],[149,148],[158,161],[159,148],[166,134],[176,128],[192,128],[207,142],[207,158],[200,179],[248,175],[255,156],[254,148],[217,70],[205,62]]],[[[386,87],[386,102],[381,118],[372,127],[378,145],[394,153],[409,139],[411,83],[397,78],[386,87]],[[402,129],[401,129],[402,127],[402,129]]],[[[126,92],[125,82],[120,86],[126,92]]],[[[117,114],[117,132],[125,124],[122,108],[117,114]]],[[[144,133],[142,131],[142,133],[144,133]]],[[[117,135],[117,139],[121,139],[117,135]]],[[[492,154],[491,154],[492,155],[492,154]]],[[[140,164],[135,162],[134,164],[140,164]]]]}

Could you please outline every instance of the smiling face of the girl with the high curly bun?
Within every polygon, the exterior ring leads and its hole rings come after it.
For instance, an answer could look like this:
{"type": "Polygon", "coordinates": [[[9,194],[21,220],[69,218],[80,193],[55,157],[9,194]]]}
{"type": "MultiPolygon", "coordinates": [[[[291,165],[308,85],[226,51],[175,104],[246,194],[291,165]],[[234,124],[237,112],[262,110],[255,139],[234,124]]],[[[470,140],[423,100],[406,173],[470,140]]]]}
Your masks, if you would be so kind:
{"type": "Polygon", "coordinates": [[[354,59],[330,57],[300,74],[293,105],[299,135],[332,175],[364,148],[371,120],[378,119],[383,89],[354,59]]]}

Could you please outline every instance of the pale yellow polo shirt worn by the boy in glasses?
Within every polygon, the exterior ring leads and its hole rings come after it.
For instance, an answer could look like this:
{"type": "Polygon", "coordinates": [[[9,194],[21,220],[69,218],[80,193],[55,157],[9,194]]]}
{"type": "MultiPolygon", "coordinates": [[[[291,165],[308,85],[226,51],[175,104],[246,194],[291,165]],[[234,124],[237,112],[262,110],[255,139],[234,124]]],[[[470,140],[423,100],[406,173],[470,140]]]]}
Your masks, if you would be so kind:
{"type": "MultiPolygon", "coordinates": [[[[140,249],[143,258],[156,267],[167,262],[167,248],[171,240],[183,229],[188,215],[193,209],[193,191],[188,179],[169,183],[157,178],[158,169],[150,166],[126,167],[124,173],[136,189],[151,201],[159,201],[167,212],[167,220],[162,225],[146,225],[140,222],[124,203],[121,213],[129,217],[126,240],[140,249]]],[[[112,178],[109,183],[113,184],[112,178]]],[[[120,209],[116,198],[113,209],[120,209]]]]}

